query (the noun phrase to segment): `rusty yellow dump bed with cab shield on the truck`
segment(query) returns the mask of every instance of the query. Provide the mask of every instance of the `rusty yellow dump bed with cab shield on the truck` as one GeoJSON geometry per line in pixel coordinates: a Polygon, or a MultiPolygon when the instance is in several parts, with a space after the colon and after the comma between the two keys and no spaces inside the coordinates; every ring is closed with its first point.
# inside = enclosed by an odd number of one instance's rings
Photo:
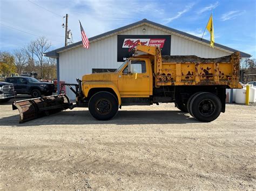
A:
{"type": "Polygon", "coordinates": [[[159,47],[137,46],[134,55],[151,55],[156,87],[220,85],[242,88],[239,83],[239,52],[220,58],[200,58],[195,55],[161,55],[159,47]]]}

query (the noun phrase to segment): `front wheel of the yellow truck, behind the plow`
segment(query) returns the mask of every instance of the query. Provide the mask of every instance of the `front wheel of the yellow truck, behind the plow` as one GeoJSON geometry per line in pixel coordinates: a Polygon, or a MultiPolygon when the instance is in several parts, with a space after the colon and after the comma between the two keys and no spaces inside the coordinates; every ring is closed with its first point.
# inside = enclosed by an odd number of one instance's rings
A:
{"type": "Polygon", "coordinates": [[[113,94],[100,91],[90,98],[88,108],[94,118],[106,121],[117,114],[118,101],[113,94]]]}

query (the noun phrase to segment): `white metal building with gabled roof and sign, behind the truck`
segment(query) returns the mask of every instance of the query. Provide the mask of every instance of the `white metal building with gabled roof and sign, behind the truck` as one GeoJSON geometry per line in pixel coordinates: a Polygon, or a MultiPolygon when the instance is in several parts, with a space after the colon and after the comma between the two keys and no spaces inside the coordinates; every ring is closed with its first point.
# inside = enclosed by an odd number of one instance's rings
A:
{"type": "MultiPolygon", "coordinates": [[[[217,58],[230,55],[237,50],[210,42],[191,34],[143,19],[98,36],[89,38],[90,48],[83,48],[82,41],[45,53],[57,59],[58,81],[76,83],[84,74],[118,68],[129,57],[129,51],[138,40],[145,45],[160,46],[162,54],[197,55],[203,58],[217,58]]],[[[250,54],[240,52],[242,58],[250,54]]],[[[58,87],[59,89],[59,87],[58,87]]],[[[67,95],[75,99],[68,89],[67,95]]]]}

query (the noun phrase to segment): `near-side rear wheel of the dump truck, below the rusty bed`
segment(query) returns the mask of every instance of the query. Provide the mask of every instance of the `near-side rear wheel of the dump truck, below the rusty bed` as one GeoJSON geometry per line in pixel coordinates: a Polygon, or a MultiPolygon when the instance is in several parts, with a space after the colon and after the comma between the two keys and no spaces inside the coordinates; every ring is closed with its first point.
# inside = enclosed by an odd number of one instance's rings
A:
{"type": "Polygon", "coordinates": [[[218,96],[203,92],[195,95],[190,102],[190,113],[201,122],[211,122],[219,117],[221,102],[218,96]]]}

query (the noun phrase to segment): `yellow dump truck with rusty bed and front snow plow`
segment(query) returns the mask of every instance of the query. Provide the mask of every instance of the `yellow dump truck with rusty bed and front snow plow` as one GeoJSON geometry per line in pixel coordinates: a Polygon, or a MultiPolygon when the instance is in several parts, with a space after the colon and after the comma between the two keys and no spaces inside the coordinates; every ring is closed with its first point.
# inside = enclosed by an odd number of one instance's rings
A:
{"type": "Polygon", "coordinates": [[[116,72],[87,74],[78,84],[65,84],[76,94],[76,104],[56,95],[15,102],[13,108],[19,109],[21,122],[75,107],[109,120],[125,105],[174,102],[198,121],[211,122],[225,112],[226,88],[242,88],[239,62],[239,52],[214,59],[162,56],[159,47],[138,45],[116,72]]]}

